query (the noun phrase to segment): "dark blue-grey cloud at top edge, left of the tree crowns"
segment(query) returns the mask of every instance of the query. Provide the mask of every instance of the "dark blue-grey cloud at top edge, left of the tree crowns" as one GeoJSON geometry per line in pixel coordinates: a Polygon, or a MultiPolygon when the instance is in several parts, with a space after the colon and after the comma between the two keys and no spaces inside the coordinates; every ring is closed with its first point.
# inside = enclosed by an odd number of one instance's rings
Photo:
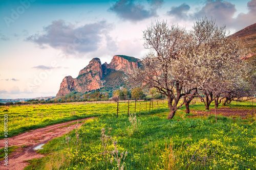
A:
{"type": "Polygon", "coordinates": [[[133,0],[119,0],[109,11],[113,11],[123,20],[140,21],[157,15],[157,9],[162,5],[162,0],[148,1],[151,8],[145,9],[141,4],[134,3],[133,0]]]}

